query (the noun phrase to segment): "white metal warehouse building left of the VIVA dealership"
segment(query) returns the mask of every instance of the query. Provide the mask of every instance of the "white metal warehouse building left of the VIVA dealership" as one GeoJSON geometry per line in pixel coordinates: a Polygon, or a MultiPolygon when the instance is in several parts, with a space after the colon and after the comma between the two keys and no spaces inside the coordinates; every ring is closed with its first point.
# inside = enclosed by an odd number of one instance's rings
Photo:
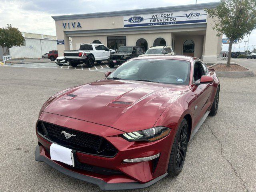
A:
{"type": "Polygon", "coordinates": [[[38,58],[51,50],[57,50],[56,36],[22,32],[24,46],[12,47],[9,54],[12,58],[38,58]]]}

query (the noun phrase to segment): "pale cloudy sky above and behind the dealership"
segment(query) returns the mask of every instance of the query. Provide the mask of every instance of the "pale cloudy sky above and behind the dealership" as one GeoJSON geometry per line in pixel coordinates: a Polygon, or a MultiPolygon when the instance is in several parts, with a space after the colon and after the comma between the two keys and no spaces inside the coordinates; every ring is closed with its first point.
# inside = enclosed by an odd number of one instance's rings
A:
{"type": "MultiPolygon", "coordinates": [[[[197,3],[216,1],[218,0],[197,0],[197,3]]],[[[56,35],[55,23],[51,18],[54,15],[165,7],[195,2],[196,0],[0,0],[0,27],[12,24],[22,32],[56,35]]],[[[248,37],[244,40],[248,40],[248,37]]],[[[253,44],[256,44],[256,30],[250,36],[250,49],[253,44]]],[[[223,50],[228,49],[228,45],[224,44],[222,47],[223,50]]],[[[238,47],[239,44],[236,44],[235,51],[238,51],[238,47]]],[[[243,50],[244,42],[240,44],[240,51],[243,50]]]]}

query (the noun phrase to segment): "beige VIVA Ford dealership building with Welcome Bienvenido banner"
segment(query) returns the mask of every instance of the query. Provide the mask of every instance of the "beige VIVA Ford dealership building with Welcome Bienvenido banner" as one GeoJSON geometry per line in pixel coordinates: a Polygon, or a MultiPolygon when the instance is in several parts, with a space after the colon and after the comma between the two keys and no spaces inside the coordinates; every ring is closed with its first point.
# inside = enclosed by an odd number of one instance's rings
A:
{"type": "Polygon", "coordinates": [[[81,43],[102,43],[110,49],[119,46],[171,45],[177,55],[217,60],[222,36],[213,30],[214,20],[205,8],[215,8],[218,2],[147,8],[115,12],[99,12],[52,16],[56,24],[59,55],[81,43]]]}

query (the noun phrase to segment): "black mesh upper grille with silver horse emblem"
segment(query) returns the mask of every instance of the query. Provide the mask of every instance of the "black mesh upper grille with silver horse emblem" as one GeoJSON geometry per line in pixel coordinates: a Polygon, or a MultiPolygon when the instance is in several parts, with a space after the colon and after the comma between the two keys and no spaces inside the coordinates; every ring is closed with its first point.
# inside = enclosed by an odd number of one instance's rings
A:
{"type": "Polygon", "coordinates": [[[38,133],[48,140],[67,148],[94,154],[98,156],[114,157],[117,149],[101,136],[80,132],[46,122],[38,122],[38,133]]]}

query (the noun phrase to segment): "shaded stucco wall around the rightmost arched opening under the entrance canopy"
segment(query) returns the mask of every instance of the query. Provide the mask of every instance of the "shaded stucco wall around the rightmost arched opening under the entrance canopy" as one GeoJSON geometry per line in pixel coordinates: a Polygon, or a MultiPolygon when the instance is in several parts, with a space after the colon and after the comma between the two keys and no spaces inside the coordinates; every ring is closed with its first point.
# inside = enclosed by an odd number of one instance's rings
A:
{"type": "Polygon", "coordinates": [[[197,58],[201,58],[203,53],[204,35],[176,36],[176,40],[175,40],[176,55],[182,55],[183,43],[186,40],[194,41],[195,43],[194,56],[197,58]]]}

